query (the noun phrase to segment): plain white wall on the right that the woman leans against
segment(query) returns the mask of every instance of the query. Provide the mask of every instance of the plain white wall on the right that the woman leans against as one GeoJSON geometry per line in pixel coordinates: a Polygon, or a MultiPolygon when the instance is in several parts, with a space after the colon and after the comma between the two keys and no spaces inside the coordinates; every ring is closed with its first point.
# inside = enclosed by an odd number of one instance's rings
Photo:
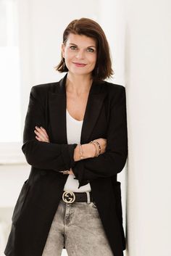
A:
{"type": "Polygon", "coordinates": [[[171,255],[170,8],[125,0],[129,256],[171,255]]]}

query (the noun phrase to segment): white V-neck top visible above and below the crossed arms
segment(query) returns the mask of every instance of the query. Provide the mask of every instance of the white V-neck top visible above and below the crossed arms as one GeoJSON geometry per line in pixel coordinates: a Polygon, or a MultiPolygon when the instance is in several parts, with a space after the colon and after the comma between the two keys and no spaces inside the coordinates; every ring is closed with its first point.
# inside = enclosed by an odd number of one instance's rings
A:
{"type": "MultiPolygon", "coordinates": [[[[70,113],[66,110],[67,117],[67,144],[80,144],[80,135],[83,125],[83,120],[78,121],[73,118],[70,113]]],[[[79,183],[77,179],[74,179],[75,176],[70,174],[67,178],[66,183],[64,184],[64,191],[73,191],[73,192],[85,192],[91,191],[90,183],[85,186],[80,186],[78,189],[79,183]]]]}

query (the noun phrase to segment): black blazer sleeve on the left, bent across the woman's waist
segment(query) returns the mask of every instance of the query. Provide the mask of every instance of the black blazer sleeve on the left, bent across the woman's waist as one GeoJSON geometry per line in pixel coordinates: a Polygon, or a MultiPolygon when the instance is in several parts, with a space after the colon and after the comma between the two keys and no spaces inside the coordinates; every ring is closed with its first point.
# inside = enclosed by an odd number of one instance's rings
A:
{"type": "Polygon", "coordinates": [[[36,140],[35,127],[46,128],[46,94],[44,90],[33,86],[30,91],[30,102],[25,117],[22,152],[28,164],[35,168],[56,171],[69,170],[75,163],[74,149],[77,144],[54,144],[36,140]]]}

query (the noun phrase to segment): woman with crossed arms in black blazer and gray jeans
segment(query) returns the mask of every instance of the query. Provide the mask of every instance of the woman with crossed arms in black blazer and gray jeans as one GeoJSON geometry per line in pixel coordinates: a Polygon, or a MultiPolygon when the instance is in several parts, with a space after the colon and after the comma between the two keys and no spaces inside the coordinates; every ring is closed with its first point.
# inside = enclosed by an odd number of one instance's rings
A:
{"type": "Polygon", "coordinates": [[[32,165],[12,216],[8,256],[122,256],[120,182],[128,154],[125,88],[97,22],[64,30],[57,83],[33,86],[22,151],[32,165]]]}

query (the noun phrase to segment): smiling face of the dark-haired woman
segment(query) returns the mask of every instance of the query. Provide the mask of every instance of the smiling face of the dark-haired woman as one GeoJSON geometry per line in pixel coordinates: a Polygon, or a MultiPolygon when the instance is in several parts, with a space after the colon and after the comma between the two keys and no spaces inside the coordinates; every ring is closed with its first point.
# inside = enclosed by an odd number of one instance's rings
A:
{"type": "Polygon", "coordinates": [[[70,73],[91,75],[97,58],[96,41],[84,35],[70,33],[62,44],[62,57],[70,73]]]}

